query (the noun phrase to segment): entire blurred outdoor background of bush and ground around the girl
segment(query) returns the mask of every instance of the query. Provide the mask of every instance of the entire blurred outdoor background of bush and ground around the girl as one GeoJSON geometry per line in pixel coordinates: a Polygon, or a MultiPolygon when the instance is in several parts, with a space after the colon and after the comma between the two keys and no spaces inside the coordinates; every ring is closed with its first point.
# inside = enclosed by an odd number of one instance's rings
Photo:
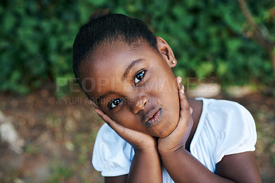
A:
{"type": "Polygon", "coordinates": [[[103,122],[72,71],[74,38],[98,10],[162,36],[190,97],[248,108],[261,177],[275,182],[274,0],[2,0],[0,182],[103,182],[91,166],[103,122]]]}

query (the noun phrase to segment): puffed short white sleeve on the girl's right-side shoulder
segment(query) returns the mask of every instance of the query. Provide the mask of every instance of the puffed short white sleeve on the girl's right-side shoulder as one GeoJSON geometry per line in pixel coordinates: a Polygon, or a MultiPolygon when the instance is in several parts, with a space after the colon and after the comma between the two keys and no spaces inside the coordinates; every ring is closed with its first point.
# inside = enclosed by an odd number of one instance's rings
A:
{"type": "Polygon", "coordinates": [[[257,136],[252,115],[242,105],[228,103],[230,105],[223,109],[227,118],[221,122],[223,129],[217,134],[216,163],[220,162],[224,155],[255,150],[257,136]]]}

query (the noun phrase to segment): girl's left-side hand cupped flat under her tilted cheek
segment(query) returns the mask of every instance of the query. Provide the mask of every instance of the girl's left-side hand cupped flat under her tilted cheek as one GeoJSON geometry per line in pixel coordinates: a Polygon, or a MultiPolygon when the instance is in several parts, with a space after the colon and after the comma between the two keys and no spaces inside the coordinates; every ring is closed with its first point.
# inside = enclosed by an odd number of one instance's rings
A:
{"type": "Polygon", "coordinates": [[[157,141],[153,136],[123,127],[118,124],[118,122],[112,120],[107,114],[104,114],[104,112],[100,110],[95,103],[91,103],[96,108],[95,111],[98,116],[100,116],[102,120],[109,125],[109,127],[118,133],[121,138],[123,138],[126,142],[129,142],[135,150],[149,151],[157,148],[157,141]]]}

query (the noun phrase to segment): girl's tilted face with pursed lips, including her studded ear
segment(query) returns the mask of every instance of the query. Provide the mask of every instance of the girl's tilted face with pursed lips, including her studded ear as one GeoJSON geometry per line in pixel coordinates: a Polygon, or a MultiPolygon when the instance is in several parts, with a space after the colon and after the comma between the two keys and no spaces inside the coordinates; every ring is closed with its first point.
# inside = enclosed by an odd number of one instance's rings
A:
{"type": "Polygon", "coordinates": [[[87,94],[115,122],[166,137],[179,120],[179,97],[170,69],[175,66],[173,52],[163,39],[157,38],[157,42],[159,52],[145,43],[100,46],[92,61],[80,66],[80,80],[87,94]]]}

